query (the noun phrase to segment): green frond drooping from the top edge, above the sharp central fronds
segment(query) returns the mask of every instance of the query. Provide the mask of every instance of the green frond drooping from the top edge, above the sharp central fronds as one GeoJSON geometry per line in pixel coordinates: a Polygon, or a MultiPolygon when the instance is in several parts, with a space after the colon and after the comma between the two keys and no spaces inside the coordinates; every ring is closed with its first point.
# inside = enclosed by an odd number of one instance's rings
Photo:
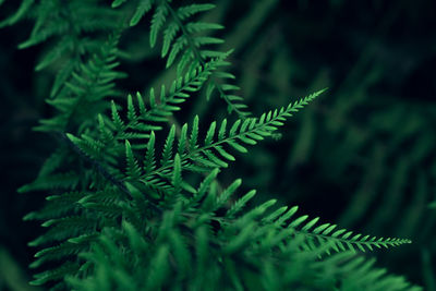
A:
{"type": "MultiPolygon", "coordinates": [[[[112,7],[117,8],[125,1],[114,0],[112,7]]],[[[192,3],[173,8],[170,0],[140,1],[130,24],[136,25],[141,19],[156,7],[150,25],[150,46],[154,47],[158,43],[158,36],[162,34],[161,57],[167,57],[167,68],[177,63],[179,74],[186,68],[195,68],[204,65],[208,60],[214,58],[222,58],[225,52],[214,50],[214,46],[222,44],[223,40],[207,36],[210,31],[222,29],[223,26],[216,23],[206,23],[191,20],[201,12],[209,11],[215,8],[210,3],[192,3]]],[[[230,65],[229,62],[222,66],[230,65]]],[[[206,98],[216,93],[228,105],[229,112],[235,112],[240,118],[250,114],[243,98],[234,92],[240,88],[231,84],[234,75],[229,72],[218,71],[214,73],[213,78],[208,82],[206,89],[206,98]]]]}

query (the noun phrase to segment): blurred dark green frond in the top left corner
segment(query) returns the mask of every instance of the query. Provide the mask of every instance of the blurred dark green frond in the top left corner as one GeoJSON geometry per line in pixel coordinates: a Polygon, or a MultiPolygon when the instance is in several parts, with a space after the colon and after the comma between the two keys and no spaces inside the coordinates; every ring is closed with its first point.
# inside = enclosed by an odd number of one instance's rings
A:
{"type": "Polygon", "coordinates": [[[2,21],[0,27],[25,17],[33,19],[35,25],[28,39],[19,48],[49,43],[35,70],[40,71],[55,63],[60,68],[51,87],[51,98],[62,94],[65,82],[74,71],[81,70],[84,58],[99,51],[105,38],[90,38],[88,35],[113,34],[121,28],[120,15],[110,8],[99,5],[96,0],[23,0],[15,14],[2,21]]]}

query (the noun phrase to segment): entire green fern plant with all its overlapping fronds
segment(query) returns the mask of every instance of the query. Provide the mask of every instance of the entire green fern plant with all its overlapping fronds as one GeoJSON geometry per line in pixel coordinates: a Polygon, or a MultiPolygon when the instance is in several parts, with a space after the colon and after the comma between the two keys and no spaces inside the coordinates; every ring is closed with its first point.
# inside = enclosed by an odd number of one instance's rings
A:
{"type": "Polygon", "coordinates": [[[48,193],[45,208],[25,217],[49,228],[31,242],[41,250],[32,283],[53,290],[419,289],[361,254],[409,240],[319,225],[294,217],[298,207],[271,209],[276,199],[247,207],[254,190],[240,195],[240,179],[227,187],[218,180],[235,160],[232,151],[247,153],[274,136],[324,90],[253,118],[228,82],[231,51],[215,50],[222,40],[208,36],[222,26],[195,19],[213,4],[116,0],[112,8],[97,0],[25,0],[0,24],[35,19],[21,47],[50,38],[55,45],[36,69],[59,66],[47,98],[57,113],[36,128],[59,146],[20,189],[48,193]],[[150,10],[150,45],[161,44],[175,77],[159,93],[128,95],[125,105],[116,89],[125,77],[116,71],[125,54],[120,38],[150,10]],[[182,102],[214,94],[238,117],[206,124],[195,116],[179,125],[173,113],[182,102]]]}

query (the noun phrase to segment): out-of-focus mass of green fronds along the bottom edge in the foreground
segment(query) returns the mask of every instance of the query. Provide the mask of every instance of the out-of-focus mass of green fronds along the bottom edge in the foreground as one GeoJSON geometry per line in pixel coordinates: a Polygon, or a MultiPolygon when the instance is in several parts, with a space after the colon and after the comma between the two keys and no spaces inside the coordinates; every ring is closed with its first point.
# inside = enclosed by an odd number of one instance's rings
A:
{"type": "MultiPolygon", "coordinates": [[[[213,193],[209,192],[199,208],[208,208],[213,193]]],[[[385,269],[374,267],[374,259],[343,252],[319,260],[318,256],[330,247],[328,244],[306,250],[307,237],[293,228],[259,227],[257,219],[263,217],[265,223],[271,217],[264,216],[271,204],[241,214],[238,220],[226,221],[225,217],[198,214],[179,203],[167,209],[156,231],[148,232],[155,233],[154,237],[144,237],[144,228],[124,220],[121,231],[105,229],[90,251],[83,254],[94,276],[83,279],[70,276],[66,280],[77,290],[89,291],[303,287],[310,290],[335,287],[350,291],[421,290],[403,277],[387,275],[385,269]],[[220,230],[210,227],[213,220],[219,223],[220,230]]],[[[269,220],[269,223],[274,222],[269,220]]]]}

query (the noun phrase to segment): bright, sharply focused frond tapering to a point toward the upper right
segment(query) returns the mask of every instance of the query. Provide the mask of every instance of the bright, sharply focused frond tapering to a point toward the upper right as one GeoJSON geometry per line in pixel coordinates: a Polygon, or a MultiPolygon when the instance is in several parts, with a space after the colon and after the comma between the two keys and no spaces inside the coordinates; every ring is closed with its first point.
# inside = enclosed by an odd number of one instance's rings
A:
{"type": "MultiPolygon", "coordinates": [[[[270,136],[278,126],[283,124],[282,122],[287,118],[291,117],[293,112],[307,105],[323,92],[314,93],[280,110],[264,113],[258,119],[247,118],[244,121],[238,120],[232,124],[228,133],[226,132],[227,122],[223,121],[220,125],[218,136],[216,136],[216,123],[213,122],[202,144],[198,144],[198,118],[196,117],[191,130],[190,141],[186,145],[186,154],[180,156],[182,169],[206,171],[207,169],[226,168],[226,160],[234,160],[234,157],[227,153],[225,146],[246,153],[245,145],[255,145],[257,141],[270,136]]],[[[166,177],[170,172],[173,156],[171,148],[173,144],[173,131],[171,130],[167,137],[160,167],[146,172],[141,179],[144,183],[153,180],[155,175],[166,177]]],[[[154,165],[157,165],[157,162],[154,161],[154,165]]]]}

